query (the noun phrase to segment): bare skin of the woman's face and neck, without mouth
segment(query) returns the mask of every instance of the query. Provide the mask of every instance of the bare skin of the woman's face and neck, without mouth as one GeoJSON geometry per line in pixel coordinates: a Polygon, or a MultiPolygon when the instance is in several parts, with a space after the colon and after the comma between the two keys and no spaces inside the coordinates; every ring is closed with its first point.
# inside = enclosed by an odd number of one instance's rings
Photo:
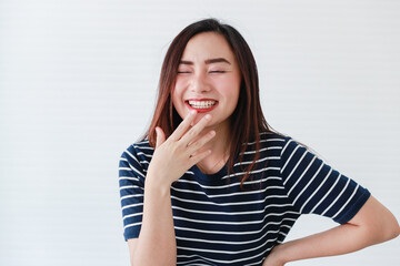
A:
{"type": "MultiPolygon", "coordinates": [[[[213,130],[216,137],[201,150],[212,153],[197,164],[203,173],[218,172],[229,157],[229,120],[239,101],[240,82],[239,65],[224,37],[204,32],[189,40],[178,69],[172,102],[179,115],[186,117],[190,112],[188,99],[218,101],[218,105],[208,112],[212,120],[204,129],[204,132],[213,130]]],[[[193,124],[204,115],[199,113],[193,124]]]]}

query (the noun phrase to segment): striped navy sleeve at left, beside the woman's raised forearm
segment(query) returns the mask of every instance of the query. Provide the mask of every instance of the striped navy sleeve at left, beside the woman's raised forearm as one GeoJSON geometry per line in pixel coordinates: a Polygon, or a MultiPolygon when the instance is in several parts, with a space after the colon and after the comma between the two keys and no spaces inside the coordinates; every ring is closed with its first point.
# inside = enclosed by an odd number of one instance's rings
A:
{"type": "Polygon", "coordinates": [[[144,193],[144,172],[133,145],[129,146],[119,161],[119,188],[123,218],[123,237],[139,237],[144,193]]]}

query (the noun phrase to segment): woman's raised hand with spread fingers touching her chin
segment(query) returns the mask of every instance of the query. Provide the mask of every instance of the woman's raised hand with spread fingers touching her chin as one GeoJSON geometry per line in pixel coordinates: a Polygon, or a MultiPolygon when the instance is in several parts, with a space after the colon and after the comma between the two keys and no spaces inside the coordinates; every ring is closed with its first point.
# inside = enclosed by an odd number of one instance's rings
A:
{"type": "Polygon", "coordinates": [[[211,121],[211,115],[204,115],[190,129],[196,116],[196,111],[190,112],[167,141],[162,129],[156,127],[156,151],[148,168],[147,182],[169,188],[172,182],[179,180],[191,166],[211,153],[211,150],[202,151],[202,147],[216,135],[216,132],[210,131],[199,136],[211,121]]]}

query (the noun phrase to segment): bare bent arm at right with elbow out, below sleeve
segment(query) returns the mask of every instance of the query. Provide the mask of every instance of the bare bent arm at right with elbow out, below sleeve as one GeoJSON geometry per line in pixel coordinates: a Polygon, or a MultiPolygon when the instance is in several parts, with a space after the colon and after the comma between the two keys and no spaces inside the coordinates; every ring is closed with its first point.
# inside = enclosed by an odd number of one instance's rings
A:
{"type": "Polygon", "coordinates": [[[347,254],[392,239],[399,234],[396,217],[370,196],[348,223],[276,246],[262,266],[283,266],[299,259],[347,254]]]}

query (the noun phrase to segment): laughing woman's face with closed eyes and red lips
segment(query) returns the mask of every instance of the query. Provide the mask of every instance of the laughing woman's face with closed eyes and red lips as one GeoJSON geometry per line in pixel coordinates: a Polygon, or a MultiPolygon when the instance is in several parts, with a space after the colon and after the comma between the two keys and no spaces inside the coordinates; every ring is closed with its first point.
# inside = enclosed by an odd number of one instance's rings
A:
{"type": "Polygon", "coordinates": [[[181,58],[173,106],[184,119],[191,110],[198,112],[193,124],[207,113],[210,126],[228,126],[240,92],[241,73],[224,37],[203,32],[189,40],[181,58]]]}

